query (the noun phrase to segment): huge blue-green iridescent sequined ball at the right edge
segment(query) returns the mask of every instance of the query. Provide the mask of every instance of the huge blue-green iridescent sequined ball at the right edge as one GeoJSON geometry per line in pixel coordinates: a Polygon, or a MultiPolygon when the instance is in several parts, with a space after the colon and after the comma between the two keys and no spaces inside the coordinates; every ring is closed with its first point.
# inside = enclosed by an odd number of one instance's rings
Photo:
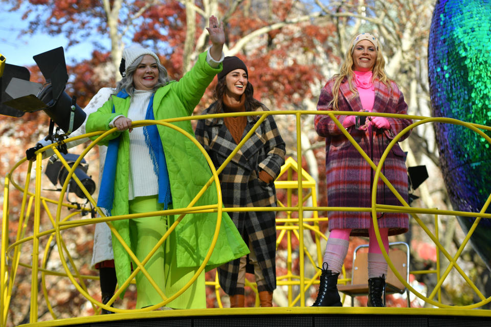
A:
{"type": "MultiPolygon", "coordinates": [[[[428,45],[433,116],[491,126],[490,17],[491,0],[437,1],[428,45]]],[[[435,131],[454,210],[480,212],[491,193],[491,145],[462,126],[437,123],[435,131]]],[[[468,230],[474,218],[459,222],[468,230]]],[[[491,219],[481,220],[471,242],[491,269],[491,219]]]]}

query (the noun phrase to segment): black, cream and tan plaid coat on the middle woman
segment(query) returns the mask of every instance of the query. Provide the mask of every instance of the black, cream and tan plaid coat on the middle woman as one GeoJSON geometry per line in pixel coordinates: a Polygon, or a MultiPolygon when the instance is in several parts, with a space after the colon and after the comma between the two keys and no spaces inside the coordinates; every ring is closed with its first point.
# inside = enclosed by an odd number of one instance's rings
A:
{"type": "MultiPolygon", "coordinates": [[[[221,113],[213,103],[203,114],[221,113]]],[[[260,106],[253,111],[267,111],[260,106]]],[[[247,116],[247,125],[242,138],[259,116],[247,116]]],[[[210,155],[216,168],[237,147],[223,118],[202,119],[196,126],[196,139],[210,155]]],[[[274,180],[284,164],[285,143],[272,115],[256,129],[251,138],[232,158],[220,173],[220,186],[225,207],[270,207],[276,206],[274,180]],[[271,183],[259,179],[264,170],[273,177],[271,183]]],[[[252,244],[256,258],[269,291],[276,288],[276,214],[275,212],[229,213],[244,241],[252,244]]],[[[227,294],[237,294],[239,261],[236,259],[218,268],[219,282],[227,294]]],[[[250,268],[250,267],[249,267],[250,268]]],[[[248,272],[253,272],[248,270],[248,272]]]]}

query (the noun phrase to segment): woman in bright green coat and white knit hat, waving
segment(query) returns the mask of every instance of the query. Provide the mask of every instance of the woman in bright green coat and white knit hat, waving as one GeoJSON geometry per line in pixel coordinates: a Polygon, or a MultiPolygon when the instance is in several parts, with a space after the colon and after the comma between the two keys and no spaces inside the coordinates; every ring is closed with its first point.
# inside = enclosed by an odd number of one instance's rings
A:
{"type": "MultiPolygon", "coordinates": [[[[203,154],[183,133],[161,125],[131,127],[132,121],[180,118],[192,114],[206,87],[221,71],[224,31],[210,17],[212,46],[191,71],[178,81],[169,81],[167,71],[152,51],[131,46],[123,51],[120,71],[124,76],[116,94],[90,114],[86,131],[109,130],[99,145],[108,153],[99,191],[98,206],[112,216],[185,208],[211,177],[203,154]]],[[[189,121],[173,125],[194,135],[189,121]]],[[[93,137],[93,139],[97,138],[93,137]]],[[[214,184],[213,184],[214,185],[214,184]]],[[[209,188],[195,206],[217,203],[215,187],[209,188]]],[[[154,216],[113,222],[119,235],[141,262],[177,217],[154,216]]],[[[170,297],[181,290],[203,263],[216,226],[216,213],[187,214],[144,268],[158,289],[170,297]]],[[[119,285],[136,268],[116,237],[113,237],[119,285]]],[[[227,214],[222,215],[218,241],[206,270],[249,252],[227,214]]],[[[136,275],[137,308],[156,305],[162,294],[140,271],[136,275]]],[[[206,308],[205,277],[202,272],[180,296],[167,303],[174,309],[206,308]]]]}

